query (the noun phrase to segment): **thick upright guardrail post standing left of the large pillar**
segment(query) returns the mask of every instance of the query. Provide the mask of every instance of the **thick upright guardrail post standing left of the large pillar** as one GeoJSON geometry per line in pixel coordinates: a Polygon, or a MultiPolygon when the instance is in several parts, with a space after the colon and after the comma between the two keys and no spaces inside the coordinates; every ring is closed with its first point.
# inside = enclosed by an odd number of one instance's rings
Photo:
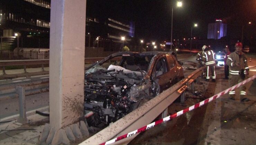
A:
{"type": "Polygon", "coordinates": [[[19,116],[17,122],[19,122],[21,124],[26,124],[28,119],[27,119],[27,114],[26,114],[25,89],[22,86],[17,86],[16,92],[19,95],[19,113],[20,113],[20,116],[19,116]]]}

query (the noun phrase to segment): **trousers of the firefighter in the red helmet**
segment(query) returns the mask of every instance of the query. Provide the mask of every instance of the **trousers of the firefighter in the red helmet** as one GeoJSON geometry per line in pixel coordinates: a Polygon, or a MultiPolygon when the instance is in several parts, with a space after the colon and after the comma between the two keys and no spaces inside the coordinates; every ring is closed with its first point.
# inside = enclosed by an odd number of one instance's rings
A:
{"type": "MultiPolygon", "coordinates": [[[[229,87],[235,86],[236,84],[240,83],[241,81],[243,81],[244,79],[241,79],[240,75],[231,75],[229,74],[229,87]]],[[[246,87],[244,85],[240,86],[240,100],[242,100],[243,98],[245,98],[246,96],[246,87]]],[[[235,90],[229,91],[229,96],[230,98],[235,99],[235,90]]]]}

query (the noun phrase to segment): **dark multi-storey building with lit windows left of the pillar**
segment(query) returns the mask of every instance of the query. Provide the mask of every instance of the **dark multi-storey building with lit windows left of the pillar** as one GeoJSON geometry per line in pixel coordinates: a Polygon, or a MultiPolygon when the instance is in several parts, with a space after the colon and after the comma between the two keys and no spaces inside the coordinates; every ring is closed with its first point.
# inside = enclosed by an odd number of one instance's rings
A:
{"type": "Polygon", "coordinates": [[[51,0],[0,0],[1,49],[49,48],[51,0]],[[17,39],[19,37],[19,39],[17,39]]]}

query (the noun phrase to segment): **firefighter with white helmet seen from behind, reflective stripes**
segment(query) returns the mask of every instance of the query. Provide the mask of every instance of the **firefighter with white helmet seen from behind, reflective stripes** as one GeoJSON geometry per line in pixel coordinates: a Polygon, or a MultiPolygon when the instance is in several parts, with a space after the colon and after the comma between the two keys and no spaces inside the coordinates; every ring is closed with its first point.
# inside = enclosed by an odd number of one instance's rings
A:
{"type": "Polygon", "coordinates": [[[215,75],[215,65],[216,65],[216,54],[213,50],[208,48],[207,46],[203,46],[203,61],[205,62],[206,66],[206,81],[210,81],[210,75],[209,75],[209,69],[211,69],[211,74],[212,74],[212,81],[216,81],[216,75],[215,75]]]}

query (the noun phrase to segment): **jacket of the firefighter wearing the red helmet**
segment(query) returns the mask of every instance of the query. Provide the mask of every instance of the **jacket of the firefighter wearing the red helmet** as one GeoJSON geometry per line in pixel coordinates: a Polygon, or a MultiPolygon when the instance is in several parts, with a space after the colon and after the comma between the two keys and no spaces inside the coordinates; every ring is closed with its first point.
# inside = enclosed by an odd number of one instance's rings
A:
{"type": "Polygon", "coordinates": [[[249,71],[247,58],[244,52],[241,52],[240,57],[236,52],[232,52],[227,59],[227,65],[229,66],[229,74],[231,75],[239,75],[241,69],[245,69],[245,73],[246,71],[249,71]],[[240,66],[237,66],[236,64],[240,64],[240,66]]]}

